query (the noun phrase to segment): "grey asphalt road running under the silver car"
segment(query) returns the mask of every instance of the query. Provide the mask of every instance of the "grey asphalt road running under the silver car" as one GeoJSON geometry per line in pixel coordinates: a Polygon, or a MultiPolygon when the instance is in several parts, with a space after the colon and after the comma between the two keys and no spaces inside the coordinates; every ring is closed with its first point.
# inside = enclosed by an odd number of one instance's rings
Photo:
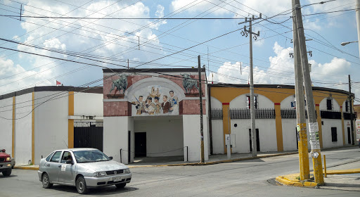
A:
{"type": "MultiPolygon", "coordinates": [[[[328,170],[360,167],[360,148],[323,151],[328,170]]],[[[91,189],[89,196],[359,196],[358,191],[278,186],[271,181],[299,172],[298,155],[206,166],[135,167],[124,189],[91,189]],[[271,184],[272,183],[272,184],[271,184]]],[[[312,162],[310,159],[310,166],[312,162]]],[[[13,170],[0,175],[0,196],[81,196],[75,187],[43,189],[35,170],[13,170]]]]}

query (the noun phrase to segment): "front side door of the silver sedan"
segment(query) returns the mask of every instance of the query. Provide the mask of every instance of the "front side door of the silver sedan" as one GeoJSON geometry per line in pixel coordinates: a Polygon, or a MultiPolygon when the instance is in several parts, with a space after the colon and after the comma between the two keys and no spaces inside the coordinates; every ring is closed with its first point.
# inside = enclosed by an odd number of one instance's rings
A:
{"type": "Polygon", "coordinates": [[[64,151],[60,163],[59,182],[75,184],[75,162],[72,153],[70,151],[64,151]],[[67,164],[67,160],[71,160],[73,164],[67,164]]]}

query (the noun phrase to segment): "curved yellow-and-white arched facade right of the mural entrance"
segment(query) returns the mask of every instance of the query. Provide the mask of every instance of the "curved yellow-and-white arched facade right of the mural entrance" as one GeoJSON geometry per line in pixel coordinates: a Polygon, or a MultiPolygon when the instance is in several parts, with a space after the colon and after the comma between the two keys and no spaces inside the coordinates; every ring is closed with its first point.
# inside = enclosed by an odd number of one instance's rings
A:
{"type": "MultiPolygon", "coordinates": [[[[226,153],[224,136],[232,134],[231,153],[249,153],[249,85],[209,84],[212,153],[226,153]]],[[[352,144],[348,92],[313,87],[321,148],[352,144]]],[[[306,105],[306,101],[305,105],[306,105]]],[[[255,85],[257,151],[296,151],[295,89],[286,85],[255,85]]],[[[307,129],[309,138],[309,129],[307,129]]],[[[310,148],[310,144],[309,144],[310,148]]]]}

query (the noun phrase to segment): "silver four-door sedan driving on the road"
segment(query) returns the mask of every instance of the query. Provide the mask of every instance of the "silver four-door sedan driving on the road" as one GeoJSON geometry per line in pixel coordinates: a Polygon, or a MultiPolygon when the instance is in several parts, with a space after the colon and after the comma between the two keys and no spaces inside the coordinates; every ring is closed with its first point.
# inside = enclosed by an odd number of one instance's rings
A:
{"type": "Polygon", "coordinates": [[[76,186],[80,194],[89,187],[115,184],[123,188],[131,181],[131,172],[129,167],[112,159],[96,148],[58,150],[40,160],[37,173],[44,188],[53,184],[76,186]]]}

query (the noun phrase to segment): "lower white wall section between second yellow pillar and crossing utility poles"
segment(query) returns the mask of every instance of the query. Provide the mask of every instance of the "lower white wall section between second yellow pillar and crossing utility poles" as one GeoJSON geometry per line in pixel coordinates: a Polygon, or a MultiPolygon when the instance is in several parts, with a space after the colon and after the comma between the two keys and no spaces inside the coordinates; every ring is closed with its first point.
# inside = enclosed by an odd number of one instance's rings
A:
{"type": "Polygon", "coordinates": [[[294,118],[283,118],[281,120],[283,125],[283,148],[284,151],[296,151],[297,134],[296,126],[297,122],[294,118]]]}

